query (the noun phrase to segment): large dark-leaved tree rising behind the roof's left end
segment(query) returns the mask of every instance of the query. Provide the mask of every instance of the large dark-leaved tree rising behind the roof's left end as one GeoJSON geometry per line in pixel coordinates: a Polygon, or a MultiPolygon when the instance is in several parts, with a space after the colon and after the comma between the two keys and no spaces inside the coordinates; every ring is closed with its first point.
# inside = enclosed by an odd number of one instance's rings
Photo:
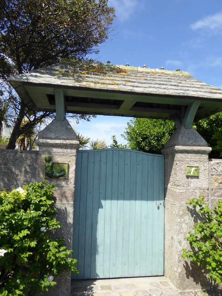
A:
{"type": "MultiPolygon", "coordinates": [[[[114,12],[108,0],[0,0],[0,78],[9,92],[6,79],[10,76],[29,73],[61,58],[82,60],[98,53],[98,46],[109,38],[114,12]]],[[[13,107],[15,123],[9,149],[14,149],[16,139],[26,129],[52,116],[47,112],[29,116],[18,97],[13,107]],[[29,122],[21,128],[24,117],[29,122]]]]}

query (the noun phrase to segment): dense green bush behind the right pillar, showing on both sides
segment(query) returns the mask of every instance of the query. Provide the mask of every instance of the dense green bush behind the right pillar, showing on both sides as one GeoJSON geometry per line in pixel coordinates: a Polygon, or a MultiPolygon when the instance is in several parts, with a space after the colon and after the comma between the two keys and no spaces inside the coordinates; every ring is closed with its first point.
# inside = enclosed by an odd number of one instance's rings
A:
{"type": "MultiPolygon", "coordinates": [[[[209,157],[222,158],[222,112],[194,122],[193,128],[212,148],[209,157]]],[[[113,136],[110,147],[161,154],[175,129],[172,120],[134,118],[127,123],[126,131],[121,135],[127,140],[127,145],[118,144],[116,136],[113,136]]]]}

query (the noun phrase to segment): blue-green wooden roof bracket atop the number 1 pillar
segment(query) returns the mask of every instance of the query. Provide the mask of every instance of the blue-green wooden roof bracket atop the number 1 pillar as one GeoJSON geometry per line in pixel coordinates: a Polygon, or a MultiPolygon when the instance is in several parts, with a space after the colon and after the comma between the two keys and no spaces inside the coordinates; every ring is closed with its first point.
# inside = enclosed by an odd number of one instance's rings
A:
{"type": "Polygon", "coordinates": [[[201,101],[190,103],[187,107],[186,113],[183,112],[185,106],[182,106],[182,117],[179,114],[171,114],[169,117],[174,121],[176,127],[179,127],[181,124],[183,124],[185,128],[192,128],[193,120],[200,103],[201,101]],[[183,116],[184,113],[185,115],[183,116]]]}

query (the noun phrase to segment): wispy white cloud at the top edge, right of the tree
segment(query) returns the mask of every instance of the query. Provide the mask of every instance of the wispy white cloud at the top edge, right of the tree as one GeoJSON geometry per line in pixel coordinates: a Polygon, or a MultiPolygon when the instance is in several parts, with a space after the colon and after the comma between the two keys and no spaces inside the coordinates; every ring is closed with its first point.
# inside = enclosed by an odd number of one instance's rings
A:
{"type": "Polygon", "coordinates": [[[116,16],[121,22],[125,21],[134,12],[137,0],[109,0],[109,6],[113,6],[116,10],[116,16]]]}

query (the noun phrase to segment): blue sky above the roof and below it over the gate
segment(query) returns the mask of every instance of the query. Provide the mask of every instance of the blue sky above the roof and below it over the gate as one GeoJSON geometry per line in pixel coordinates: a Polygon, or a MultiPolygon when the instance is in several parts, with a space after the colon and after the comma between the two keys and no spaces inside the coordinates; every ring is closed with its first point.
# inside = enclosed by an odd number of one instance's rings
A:
{"type": "MultiPolygon", "coordinates": [[[[221,0],[109,0],[118,18],[111,41],[101,47],[99,61],[147,68],[188,71],[222,88],[221,0]]],[[[98,116],[74,126],[93,139],[120,136],[127,117],[98,116]]]]}

